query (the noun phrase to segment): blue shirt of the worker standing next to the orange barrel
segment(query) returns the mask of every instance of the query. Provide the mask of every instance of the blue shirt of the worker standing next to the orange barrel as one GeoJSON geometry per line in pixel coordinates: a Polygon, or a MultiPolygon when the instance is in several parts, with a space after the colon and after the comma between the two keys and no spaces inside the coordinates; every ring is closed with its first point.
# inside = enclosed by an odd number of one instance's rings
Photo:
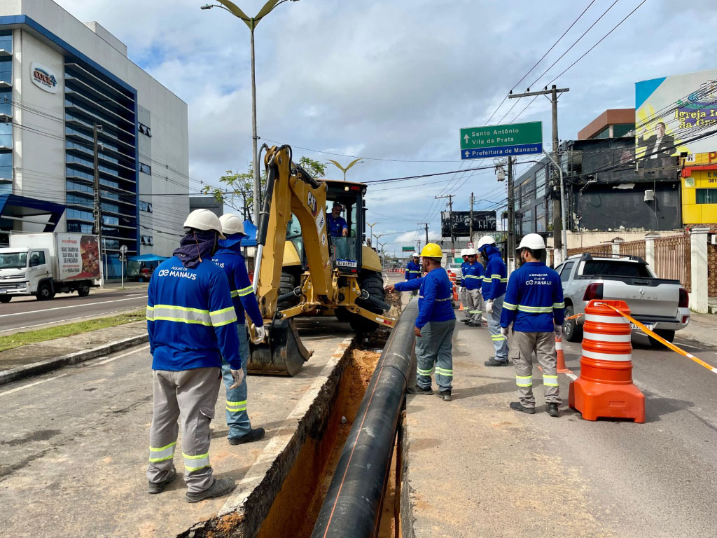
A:
{"type": "Polygon", "coordinates": [[[552,332],[564,321],[563,286],[558,273],[541,262],[513,271],[505,291],[500,326],[522,333],[552,332]]]}

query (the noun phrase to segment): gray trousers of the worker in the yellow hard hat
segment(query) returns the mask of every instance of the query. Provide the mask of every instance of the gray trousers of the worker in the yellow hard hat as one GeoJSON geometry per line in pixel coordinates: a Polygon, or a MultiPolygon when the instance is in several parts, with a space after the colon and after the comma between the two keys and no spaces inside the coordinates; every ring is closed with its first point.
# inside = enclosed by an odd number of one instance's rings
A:
{"type": "Polygon", "coordinates": [[[436,384],[443,392],[451,390],[453,381],[453,331],[455,319],[429,321],[421,328],[416,339],[416,384],[422,389],[431,388],[431,374],[435,365],[436,384]]]}

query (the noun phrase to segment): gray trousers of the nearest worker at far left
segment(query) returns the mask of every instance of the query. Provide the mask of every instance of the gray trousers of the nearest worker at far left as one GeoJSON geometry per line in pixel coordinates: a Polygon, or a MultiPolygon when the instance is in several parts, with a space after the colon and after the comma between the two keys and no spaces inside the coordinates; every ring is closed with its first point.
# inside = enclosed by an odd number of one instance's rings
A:
{"type": "Polygon", "coordinates": [[[222,372],[217,368],[196,368],[170,372],[153,370],[154,406],[149,430],[149,466],[147,480],[164,481],[174,469],[174,448],[177,444],[181,417],[181,444],[184,457],[184,481],[191,493],[212,486],[209,464],[209,423],[214,418],[222,372]]]}

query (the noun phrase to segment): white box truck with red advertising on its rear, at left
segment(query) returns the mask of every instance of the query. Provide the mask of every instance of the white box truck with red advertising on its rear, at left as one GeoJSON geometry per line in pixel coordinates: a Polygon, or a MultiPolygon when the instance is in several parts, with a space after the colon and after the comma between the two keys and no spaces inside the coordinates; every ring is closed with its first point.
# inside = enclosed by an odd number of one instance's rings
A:
{"type": "Polygon", "coordinates": [[[100,279],[96,235],[39,233],[10,236],[0,248],[0,303],[34,295],[39,301],[55,293],[85,297],[100,279]]]}

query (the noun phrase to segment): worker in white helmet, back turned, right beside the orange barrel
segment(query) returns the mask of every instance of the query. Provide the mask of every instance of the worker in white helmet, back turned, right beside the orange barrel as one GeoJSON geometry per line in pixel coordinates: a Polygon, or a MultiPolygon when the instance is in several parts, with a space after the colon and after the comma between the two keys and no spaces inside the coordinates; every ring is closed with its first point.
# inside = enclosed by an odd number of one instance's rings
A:
{"type": "Polygon", "coordinates": [[[521,267],[513,271],[505,291],[500,331],[508,336],[513,324],[511,359],[516,367],[518,402],[511,409],[532,415],[536,400],[533,397],[533,353],[543,369],[546,411],[559,416],[561,403],[558,387],[556,336],[562,336],[565,303],[563,286],[558,273],[540,260],[545,257],[545,241],[538,234],[528,234],[518,245],[521,267]]]}

